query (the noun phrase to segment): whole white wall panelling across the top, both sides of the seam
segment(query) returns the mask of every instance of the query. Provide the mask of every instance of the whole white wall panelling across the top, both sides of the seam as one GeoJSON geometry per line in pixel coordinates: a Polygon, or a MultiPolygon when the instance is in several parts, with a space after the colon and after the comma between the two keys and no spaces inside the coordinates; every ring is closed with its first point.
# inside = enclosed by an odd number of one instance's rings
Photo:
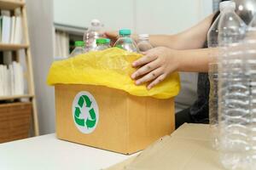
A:
{"type": "Polygon", "coordinates": [[[175,33],[212,12],[212,0],[54,0],[55,23],[90,26],[102,20],[107,30],[175,33]]]}

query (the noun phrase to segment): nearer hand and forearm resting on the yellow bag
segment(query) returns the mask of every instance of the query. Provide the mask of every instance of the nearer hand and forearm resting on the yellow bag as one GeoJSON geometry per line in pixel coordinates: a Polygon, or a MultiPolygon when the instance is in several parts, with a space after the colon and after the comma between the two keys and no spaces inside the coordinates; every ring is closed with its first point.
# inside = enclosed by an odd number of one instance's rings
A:
{"type": "Polygon", "coordinates": [[[212,62],[209,57],[209,48],[176,50],[159,47],[148,50],[141,59],[133,62],[132,66],[138,68],[131,78],[137,85],[148,82],[148,89],[162,82],[174,71],[207,72],[208,64],[212,62]]]}

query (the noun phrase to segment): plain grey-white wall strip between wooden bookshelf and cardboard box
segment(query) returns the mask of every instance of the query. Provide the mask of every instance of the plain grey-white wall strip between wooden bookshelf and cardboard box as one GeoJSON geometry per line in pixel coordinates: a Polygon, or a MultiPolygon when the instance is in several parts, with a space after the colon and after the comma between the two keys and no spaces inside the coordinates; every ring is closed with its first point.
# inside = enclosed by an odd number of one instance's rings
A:
{"type": "Polygon", "coordinates": [[[53,60],[53,2],[26,0],[40,134],[55,132],[54,89],[46,85],[53,60]]]}

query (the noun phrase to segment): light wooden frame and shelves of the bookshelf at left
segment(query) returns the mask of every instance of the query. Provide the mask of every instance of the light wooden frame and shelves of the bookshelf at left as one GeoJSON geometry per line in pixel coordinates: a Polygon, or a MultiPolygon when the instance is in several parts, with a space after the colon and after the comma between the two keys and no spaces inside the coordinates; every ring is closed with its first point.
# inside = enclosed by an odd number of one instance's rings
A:
{"type": "MultiPolygon", "coordinates": [[[[4,100],[8,102],[26,99],[32,105],[32,129],[33,135],[38,136],[39,129],[38,129],[38,111],[37,111],[37,103],[36,103],[36,96],[35,96],[35,89],[34,89],[34,80],[33,80],[33,71],[32,71],[32,55],[30,51],[30,42],[28,37],[28,28],[27,28],[27,20],[26,20],[26,3],[25,0],[0,0],[0,10],[10,10],[13,11],[15,8],[20,8],[20,16],[21,16],[21,23],[22,23],[22,35],[24,39],[24,43],[22,44],[9,44],[9,43],[1,43],[0,42],[0,51],[11,51],[13,52],[12,55],[15,54],[15,59],[17,61],[20,60],[18,55],[18,51],[23,49],[25,51],[25,60],[26,60],[26,72],[24,74],[25,81],[27,84],[28,94],[23,95],[11,95],[11,96],[0,96],[0,107],[4,104],[4,100]],[[3,104],[2,104],[2,103],[3,104]]],[[[1,57],[1,56],[0,56],[1,57]]],[[[11,106],[10,106],[11,107],[11,106]]],[[[22,114],[22,112],[20,112],[22,114]]],[[[0,122],[1,123],[1,122],[0,122]]]]}

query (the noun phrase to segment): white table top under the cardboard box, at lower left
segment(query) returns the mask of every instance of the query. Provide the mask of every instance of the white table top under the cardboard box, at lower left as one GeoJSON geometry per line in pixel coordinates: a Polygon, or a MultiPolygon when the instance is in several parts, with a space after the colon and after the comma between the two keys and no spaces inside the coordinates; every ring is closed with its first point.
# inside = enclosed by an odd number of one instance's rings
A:
{"type": "Polygon", "coordinates": [[[1,170],[98,170],[129,157],[56,139],[54,133],[0,144],[1,170]]]}

